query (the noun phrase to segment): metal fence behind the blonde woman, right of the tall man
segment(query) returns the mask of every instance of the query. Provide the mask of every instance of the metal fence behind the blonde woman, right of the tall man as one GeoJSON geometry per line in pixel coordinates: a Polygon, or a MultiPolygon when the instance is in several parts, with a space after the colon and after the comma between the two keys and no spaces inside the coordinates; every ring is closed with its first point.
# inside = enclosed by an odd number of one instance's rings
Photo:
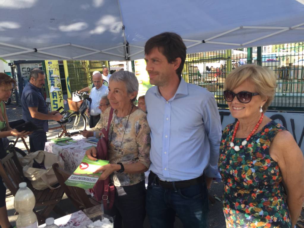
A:
{"type": "Polygon", "coordinates": [[[243,64],[259,64],[275,71],[277,87],[269,109],[304,110],[304,42],[188,54],[183,78],[212,92],[226,108],[226,75],[243,64]]]}

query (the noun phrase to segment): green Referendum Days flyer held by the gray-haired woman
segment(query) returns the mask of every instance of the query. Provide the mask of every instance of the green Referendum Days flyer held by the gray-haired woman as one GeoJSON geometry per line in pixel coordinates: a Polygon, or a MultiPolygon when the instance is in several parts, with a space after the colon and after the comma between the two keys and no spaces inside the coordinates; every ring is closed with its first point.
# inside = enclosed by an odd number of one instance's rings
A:
{"type": "Polygon", "coordinates": [[[92,161],[88,159],[87,155],[85,155],[81,161],[81,164],[64,183],[68,186],[84,189],[93,188],[95,183],[98,181],[99,176],[101,175],[101,173],[93,174],[93,172],[106,164],[109,164],[109,161],[92,161]]]}

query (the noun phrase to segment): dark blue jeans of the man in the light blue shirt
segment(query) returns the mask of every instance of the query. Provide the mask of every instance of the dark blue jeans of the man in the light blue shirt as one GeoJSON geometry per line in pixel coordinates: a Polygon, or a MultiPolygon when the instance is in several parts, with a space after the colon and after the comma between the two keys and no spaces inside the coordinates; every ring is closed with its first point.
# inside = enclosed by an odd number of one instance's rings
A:
{"type": "Polygon", "coordinates": [[[173,228],[176,214],[184,228],[205,228],[208,212],[206,182],[169,189],[158,185],[149,175],[146,208],[151,228],[173,228]]]}

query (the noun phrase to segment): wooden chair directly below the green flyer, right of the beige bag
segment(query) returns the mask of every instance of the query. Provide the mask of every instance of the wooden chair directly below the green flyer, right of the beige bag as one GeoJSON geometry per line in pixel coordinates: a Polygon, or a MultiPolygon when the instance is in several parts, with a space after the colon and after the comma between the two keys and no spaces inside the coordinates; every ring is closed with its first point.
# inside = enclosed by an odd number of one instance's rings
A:
{"type": "Polygon", "coordinates": [[[66,181],[67,178],[71,176],[71,173],[61,169],[57,163],[53,164],[53,170],[59,184],[64,190],[64,193],[69,199],[71,199],[72,203],[77,209],[83,210],[100,205],[100,202],[88,196],[84,189],[73,186],[67,186],[66,184],[64,184],[64,181],[66,181]]]}

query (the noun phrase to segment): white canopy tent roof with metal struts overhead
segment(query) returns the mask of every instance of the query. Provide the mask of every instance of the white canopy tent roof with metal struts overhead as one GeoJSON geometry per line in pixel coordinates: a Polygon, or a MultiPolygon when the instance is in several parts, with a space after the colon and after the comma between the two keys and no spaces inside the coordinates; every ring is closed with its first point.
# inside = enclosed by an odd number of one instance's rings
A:
{"type": "Polygon", "coordinates": [[[0,0],[0,57],[134,60],[165,31],[188,53],[293,43],[303,15],[304,0],[0,0]]]}

